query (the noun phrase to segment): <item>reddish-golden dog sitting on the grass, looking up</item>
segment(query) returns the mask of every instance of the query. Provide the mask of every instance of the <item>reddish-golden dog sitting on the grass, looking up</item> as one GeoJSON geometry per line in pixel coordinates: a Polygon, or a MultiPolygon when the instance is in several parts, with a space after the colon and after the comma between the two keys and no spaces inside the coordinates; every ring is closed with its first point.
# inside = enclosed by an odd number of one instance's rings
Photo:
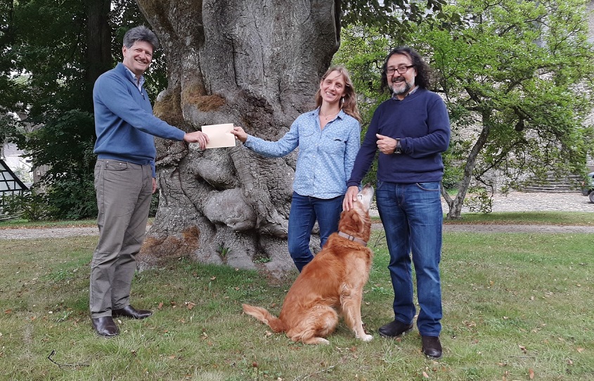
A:
{"type": "Polygon", "coordinates": [[[330,344],[325,337],[334,332],[338,316],[355,337],[373,339],[363,330],[361,299],[369,278],[373,252],[367,247],[371,233],[369,205],[373,187],[367,184],[353,208],[340,215],[338,232],[332,233],[321,252],[307,264],[291,286],[278,318],[262,307],[243,304],[243,311],[285,332],[295,342],[330,344]]]}

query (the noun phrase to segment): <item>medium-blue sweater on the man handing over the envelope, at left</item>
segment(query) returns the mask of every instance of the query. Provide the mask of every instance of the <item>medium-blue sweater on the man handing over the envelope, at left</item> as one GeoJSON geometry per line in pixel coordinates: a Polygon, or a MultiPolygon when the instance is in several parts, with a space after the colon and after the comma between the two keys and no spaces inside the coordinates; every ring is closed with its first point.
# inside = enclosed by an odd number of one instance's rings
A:
{"type": "Polygon", "coordinates": [[[155,176],[153,136],[182,141],[186,134],[153,115],[144,88],[138,90],[134,75],[122,64],[103,73],[93,87],[95,132],[93,150],[99,159],[150,164],[155,176]]]}

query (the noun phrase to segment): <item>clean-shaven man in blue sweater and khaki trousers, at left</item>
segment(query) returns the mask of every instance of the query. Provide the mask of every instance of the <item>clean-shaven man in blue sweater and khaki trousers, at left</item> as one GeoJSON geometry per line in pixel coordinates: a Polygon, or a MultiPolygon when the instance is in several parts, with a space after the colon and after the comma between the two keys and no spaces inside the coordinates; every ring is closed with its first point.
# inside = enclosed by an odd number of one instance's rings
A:
{"type": "Polygon", "coordinates": [[[113,317],[153,314],[131,306],[130,289],[151,195],[157,191],[154,136],[198,143],[202,149],[208,143],[201,131],[186,134],[153,115],[143,73],[158,44],[147,27],[129,30],[122,63],[103,73],[93,88],[99,242],[91,261],[89,306],[93,328],[103,337],[120,333],[113,317]]]}

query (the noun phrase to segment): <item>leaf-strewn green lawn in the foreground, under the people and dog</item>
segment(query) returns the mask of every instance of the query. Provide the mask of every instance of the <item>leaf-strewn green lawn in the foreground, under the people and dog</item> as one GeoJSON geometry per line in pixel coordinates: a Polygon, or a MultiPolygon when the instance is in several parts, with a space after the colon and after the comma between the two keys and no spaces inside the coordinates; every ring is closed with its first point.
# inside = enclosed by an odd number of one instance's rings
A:
{"type": "MultiPolygon", "coordinates": [[[[574,224],[569,222],[569,224],[574,224]]],[[[344,323],[328,346],[294,343],[243,314],[278,314],[296,273],[180,259],[138,273],[133,304],[155,314],[93,335],[89,261],[96,237],[0,240],[0,380],[594,380],[593,237],[445,233],[444,356],[426,359],[413,330],[386,340],[392,285],[382,232],[362,306],[363,343],[344,323]]]]}

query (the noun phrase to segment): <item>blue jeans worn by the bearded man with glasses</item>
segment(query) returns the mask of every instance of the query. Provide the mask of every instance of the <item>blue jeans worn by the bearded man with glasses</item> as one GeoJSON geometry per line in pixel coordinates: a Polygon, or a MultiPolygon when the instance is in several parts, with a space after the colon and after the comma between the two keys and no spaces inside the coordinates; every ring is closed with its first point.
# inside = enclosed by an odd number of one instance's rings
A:
{"type": "Polygon", "coordinates": [[[439,182],[378,181],[375,200],[390,253],[388,269],[394,288],[394,318],[409,324],[415,317],[412,257],[420,306],[419,332],[423,336],[439,336],[442,315],[439,261],[444,219],[439,182]]]}

